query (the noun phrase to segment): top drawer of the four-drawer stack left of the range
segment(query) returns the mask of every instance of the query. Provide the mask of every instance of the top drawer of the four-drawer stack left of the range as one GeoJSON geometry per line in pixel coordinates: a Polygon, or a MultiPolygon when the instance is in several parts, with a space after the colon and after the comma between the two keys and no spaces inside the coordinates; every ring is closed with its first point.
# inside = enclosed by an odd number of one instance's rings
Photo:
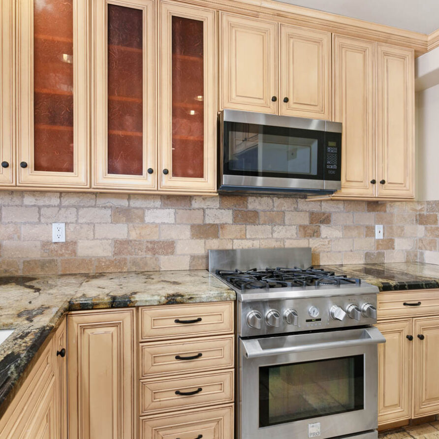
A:
{"type": "Polygon", "coordinates": [[[233,302],[140,308],[140,341],[233,332],[233,302]]]}

